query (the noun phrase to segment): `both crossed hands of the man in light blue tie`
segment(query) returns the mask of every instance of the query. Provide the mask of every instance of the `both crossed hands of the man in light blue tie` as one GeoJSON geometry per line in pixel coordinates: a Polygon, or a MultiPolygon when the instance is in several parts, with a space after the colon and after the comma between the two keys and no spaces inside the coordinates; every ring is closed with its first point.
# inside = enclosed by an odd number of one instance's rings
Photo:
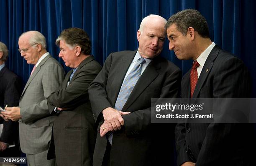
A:
{"type": "Polygon", "coordinates": [[[124,125],[122,115],[130,114],[131,112],[123,112],[108,107],[102,111],[104,122],[100,126],[100,136],[105,136],[109,131],[117,131],[124,125]]]}

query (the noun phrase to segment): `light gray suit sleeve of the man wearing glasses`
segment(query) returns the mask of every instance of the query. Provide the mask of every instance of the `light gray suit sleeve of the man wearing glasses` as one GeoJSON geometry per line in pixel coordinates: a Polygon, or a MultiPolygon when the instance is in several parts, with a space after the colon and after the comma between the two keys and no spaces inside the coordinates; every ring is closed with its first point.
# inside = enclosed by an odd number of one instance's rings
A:
{"type": "Polygon", "coordinates": [[[21,119],[25,124],[50,116],[47,98],[56,91],[64,79],[64,70],[57,63],[49,64],[44,70],[41,83],[44,95],[41,102],[20,108],[21,119]]]}

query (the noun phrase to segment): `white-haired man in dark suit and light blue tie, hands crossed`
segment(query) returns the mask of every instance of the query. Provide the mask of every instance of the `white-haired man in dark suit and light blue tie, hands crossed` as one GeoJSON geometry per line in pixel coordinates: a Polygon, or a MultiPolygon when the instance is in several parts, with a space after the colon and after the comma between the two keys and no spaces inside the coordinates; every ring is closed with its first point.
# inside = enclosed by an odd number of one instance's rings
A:
{"type": "Polygon", "coordinates": [[[151,98],[177,98],[181,79],[180,69],[159,56],[165,24],[159,15],[145,17],[138,50],[111,53],[90,85],[99,131],[94,166],[174,165],[174,126],[151,124],[151,98]]]}

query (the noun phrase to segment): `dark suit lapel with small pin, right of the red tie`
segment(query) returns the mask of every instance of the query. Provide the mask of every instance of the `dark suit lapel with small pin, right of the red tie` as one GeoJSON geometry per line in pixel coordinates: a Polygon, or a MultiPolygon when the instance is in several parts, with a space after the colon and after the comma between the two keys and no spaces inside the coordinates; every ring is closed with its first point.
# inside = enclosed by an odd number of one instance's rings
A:
{"type": "MultiPolygon", "coordinates": [[[[200,77],[198,78],[196,87],[195,87],[195,91],[194,94],[192,96],[192,98],[197,98],[198,94],[202,88],[202,85],[204,84],[207,76],[209,75],[209,73],[211,72],[212,66],[214,64],[214,60],[215,58],[218,56],[220,51],[220,48],[215,45],[215,47],[213,47],[212,51],[210,52],[209,56],[207,57],[205,64],[202,68],[202,72],[200,74],[200,77]]],[[[190,83],[189,83],[189,87],[190,87],[190,83]]],[[[190,91],[189,91],[190,92],[190,91]]]]}

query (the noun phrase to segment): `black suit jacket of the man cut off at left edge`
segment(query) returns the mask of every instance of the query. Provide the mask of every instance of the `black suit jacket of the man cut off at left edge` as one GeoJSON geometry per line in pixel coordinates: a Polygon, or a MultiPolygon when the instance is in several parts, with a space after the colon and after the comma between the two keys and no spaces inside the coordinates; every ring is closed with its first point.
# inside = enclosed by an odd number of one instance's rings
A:
{"type": "MultiPolygon", "coordinates": [[[[20,78],[11,72],[7,67],[0,71],[0,106],[4,108],[15,107],[19,105],[22,83],[20,78]]],[[[0,118],[0,123],[3,124],[3,133],[0,141],[8,144],[13,144],[15,141],[18,146],[18,123],[15,121],[5,121],[0,118]]]]}

